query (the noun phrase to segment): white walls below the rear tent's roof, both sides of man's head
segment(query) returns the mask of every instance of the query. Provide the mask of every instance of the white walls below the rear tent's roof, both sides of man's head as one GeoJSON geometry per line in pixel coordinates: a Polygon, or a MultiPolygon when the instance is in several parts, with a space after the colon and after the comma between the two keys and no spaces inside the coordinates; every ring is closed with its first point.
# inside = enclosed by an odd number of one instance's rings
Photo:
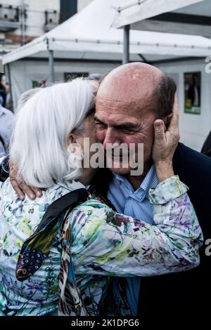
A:
{"type": "MultiPolygon", "coordinates": [[[[164,72],[172,74],[177,82],[179,97],[181,142],[200,151],[207,134],[211,130],[211,73],[205,72],[204,60],[174,62],[157,65],[164,72]],[[184,113],[184,72],[201,72],[201,113],[184,113]]],[[[106,74],[116,63],[55,61],[55,81],[63,80],[64,72],[89,72],[106,74]]],[[[32,80],[46,80],[49,75],[47,60],[19,60],[11,63],[14,104],[21,93],[32,88],[32,80]]]]}

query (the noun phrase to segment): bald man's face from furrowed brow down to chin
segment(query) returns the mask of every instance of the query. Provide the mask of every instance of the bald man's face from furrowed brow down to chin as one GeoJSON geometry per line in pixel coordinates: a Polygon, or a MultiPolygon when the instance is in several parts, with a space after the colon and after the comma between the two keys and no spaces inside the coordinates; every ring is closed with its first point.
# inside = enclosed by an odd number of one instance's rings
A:
{"type": "MultiPolygon", "coordinates": [[[[112,145],[126,143],[128,147],[130,143],[134,143],[136,145],[135,159],[137,161],[139,159],[137,147],[139,143],[143,143],[143,164],[148,164],[151,161],[155,114],[147,110],[146,101],[138,104],[136,101],[131,100],[126,102],[125,100],[114,100],[109,96],[96,98],[95,121],[96,137],[103,144],[105,150],[108,143],[112,145]]],[[[128,162],[127,168],[123,168],[122,158],[120,157],[118,166],[113,159],[109,167],[114,173],[128,176],[132,170],[130,165],[128,162]]]]}

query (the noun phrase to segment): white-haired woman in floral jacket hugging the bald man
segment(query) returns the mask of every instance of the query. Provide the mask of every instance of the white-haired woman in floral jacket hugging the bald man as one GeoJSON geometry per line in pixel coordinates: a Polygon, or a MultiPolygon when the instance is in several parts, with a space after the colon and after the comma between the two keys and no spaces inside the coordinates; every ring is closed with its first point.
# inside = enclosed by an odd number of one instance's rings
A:
{"type": "MultiPolygon", "coordinates": [[[[1,186],[1,315],[130,314],[121,288],[106,303],[112,277],[165,274],[199,263],[200,226],[188,188],[172,169],[159,170],[159,184],[150,191],[154,225],[118,214],[87,192],[97,170],[80,168],[75,143],[83,150],[84,138],[96,142],[95,89],[84,79],[41,88],[17,114],[11,159],[28,185],[44,191],[22,201],[10,180],[1,186]],[[67,201],[70,209],[62,210],[67,201]]],[[[155,132],[155,166],[160,158],[169,164],[175,137],[168,155],[157,138],[155,132]]]]}

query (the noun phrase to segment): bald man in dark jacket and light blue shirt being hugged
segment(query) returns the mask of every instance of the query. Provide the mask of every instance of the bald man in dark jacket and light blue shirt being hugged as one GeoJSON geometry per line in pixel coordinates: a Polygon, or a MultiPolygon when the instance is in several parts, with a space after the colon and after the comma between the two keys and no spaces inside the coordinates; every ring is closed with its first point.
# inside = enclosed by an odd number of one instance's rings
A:
{"type": "MultiPolygon", "coordinates": [[[[143,143],[143,173],[132,176],[130,164],[125,169],[111,162],[110,170],[97,174],[99,190],[107,194],[119,213],[153,223],[153,211],[148,201],[148,190],[157,184],[155,166],[151,158],[155,119],[162,119],[167,127],[172,117],[176,85],[174,80],[157,68],[143,63],[117,67],[103,79],[96,96],[96,133],[106,145],[112,143],[143,143]]],[[[136,155],[137,156],[137,155],[136,155]]],[[[179,143],[173,159],[174,173],[189,187],[189,197],[203,229],[205,244],[211,238],[210,187],[211,159],[179,143]]],[[[30,197],[38,190],[25,183],[14,183],[19,196],[24,190],[30,197]],[[17,190],[18,189],[18,190],[17,190]]],[[[39,192],[40,193],[40,192],[39,192]]],[[[32,197],[31,197],[32,198],[32,197]]],[[[35,194],[34,194],[35,198],[35,194]]],[[[140,315],[147,325],[172,315],[174,324],[185,314],[188,325],[194,325],[192,314],[209,315],[204,296],[210,294],[210,258],[204,245],[200,251],[201,263],[195,270],[151,278],[115,280],[113,290],[118,296],[119,285],[126,291],[132,315],[140,315]],[[197,313],[196,313],[197,312],[197,313]]],[[[181,260],[182,263],[182,260],[181,260]]],[[[119,295],[120,296],[120,295],[119,295]]],[[[112,301],[109,301],[109,304],[112,301]]],[[[184,321],[183,323],[184,324],[184,321]]]]}

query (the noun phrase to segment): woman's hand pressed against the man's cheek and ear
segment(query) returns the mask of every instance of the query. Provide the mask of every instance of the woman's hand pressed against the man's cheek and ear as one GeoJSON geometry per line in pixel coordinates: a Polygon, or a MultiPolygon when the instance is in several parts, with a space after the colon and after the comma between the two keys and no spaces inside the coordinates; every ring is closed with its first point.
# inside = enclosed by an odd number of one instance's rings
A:
{"type": "Polygon", "coordinates": [[[161,119],[154,122],[155,141],[153,145],[152,157],[158,176],[158,183],[171,176],[174,176],[172,158],[179,143],[179,110],[177,105],[177,95],[174,98],[172,119],[168,128],[161,119]]]}

